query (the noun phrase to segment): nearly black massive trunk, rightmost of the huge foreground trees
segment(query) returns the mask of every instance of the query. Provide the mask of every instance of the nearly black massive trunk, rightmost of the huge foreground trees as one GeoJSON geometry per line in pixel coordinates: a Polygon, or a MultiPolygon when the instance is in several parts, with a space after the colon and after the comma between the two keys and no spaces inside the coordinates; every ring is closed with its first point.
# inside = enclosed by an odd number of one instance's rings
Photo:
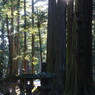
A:
{"type": "Polygon", "coordinates": [[[92,89],[92,0],[77,0],[77,64],[75,95],[91,95],[92,89]]]}

